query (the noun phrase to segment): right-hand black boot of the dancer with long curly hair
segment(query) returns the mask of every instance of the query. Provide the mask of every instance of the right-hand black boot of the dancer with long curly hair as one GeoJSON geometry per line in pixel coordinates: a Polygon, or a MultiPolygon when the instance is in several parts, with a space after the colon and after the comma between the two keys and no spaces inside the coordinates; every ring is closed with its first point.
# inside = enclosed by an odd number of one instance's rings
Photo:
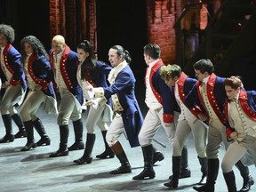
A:
{"type": "Polygon", "coordinates": [[[42,121],[37,118],[35,121],[33,121],[33,124],[35,126],[36,132],[40,135],[41,139],[36,142],[36,146],[43,146],[43,145],[50,145],[51,140],[47,133],[45,132],[44,125],[42,124],[42,121]]]}

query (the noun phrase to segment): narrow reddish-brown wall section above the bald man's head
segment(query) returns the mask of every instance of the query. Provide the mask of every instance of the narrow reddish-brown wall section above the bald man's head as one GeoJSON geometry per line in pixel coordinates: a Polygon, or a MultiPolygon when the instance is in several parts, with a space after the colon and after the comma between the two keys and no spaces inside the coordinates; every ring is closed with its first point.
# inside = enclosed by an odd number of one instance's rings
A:
{"type": "Polygon", "coordinates": [[[86,15],[85,0],[50,0],[50,42],[60,34],[76,51],[77,44],[87,37],[86,15]]]}

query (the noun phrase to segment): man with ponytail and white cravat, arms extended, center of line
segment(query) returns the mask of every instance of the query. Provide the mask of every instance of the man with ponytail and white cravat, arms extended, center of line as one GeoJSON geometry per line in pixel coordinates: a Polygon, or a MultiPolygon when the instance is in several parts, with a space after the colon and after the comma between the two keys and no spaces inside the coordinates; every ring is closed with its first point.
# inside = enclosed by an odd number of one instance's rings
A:
{"type": "Polygon", "coordinates": [[[97,105],[102,105],[111,97],[115,117],[109,125],[106,140],[121,166],[111,171],[110,174],[128,173],[132,172],[132,168],[118,138],[124,132],[132,148],[139,146],[138,134],[143,123],[143,116],[135,97],[136,80],[129,66],[132,60],[130,53],[122,46],[115,45],[109,49],[108,60],[113,67],[108,75],[110,86],[98,88],[89,86],[88,89],[94,92],[95,99],[88,101],[87,105],[96,108],[97,105]]]}

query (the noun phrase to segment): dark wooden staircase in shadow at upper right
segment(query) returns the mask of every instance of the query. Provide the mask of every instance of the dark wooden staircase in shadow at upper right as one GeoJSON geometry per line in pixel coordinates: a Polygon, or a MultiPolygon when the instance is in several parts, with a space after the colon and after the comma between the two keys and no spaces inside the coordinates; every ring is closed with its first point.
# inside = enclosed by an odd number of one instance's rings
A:
{"type": "Polygon", "coordinates": [[[193,64],[207,58],[218,76],[235,75],[236,60],[252,50],[256,50],[256,0],[226,0],[204,29],[196,53],[183,63],[183,71],[194,76],[193,64]]]}

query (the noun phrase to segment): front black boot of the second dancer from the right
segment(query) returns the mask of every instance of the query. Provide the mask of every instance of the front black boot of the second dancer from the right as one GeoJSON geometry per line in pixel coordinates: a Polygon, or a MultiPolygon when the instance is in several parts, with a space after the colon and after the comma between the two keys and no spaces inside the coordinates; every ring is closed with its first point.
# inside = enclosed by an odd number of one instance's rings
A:
{"type": "Polygon", "coordinates": [[[219,173],[219,159],[208,159],[208,173],[206,183],[201,187],[193,187],[196,191],[214,192],[215,181],[219,173]]]}

